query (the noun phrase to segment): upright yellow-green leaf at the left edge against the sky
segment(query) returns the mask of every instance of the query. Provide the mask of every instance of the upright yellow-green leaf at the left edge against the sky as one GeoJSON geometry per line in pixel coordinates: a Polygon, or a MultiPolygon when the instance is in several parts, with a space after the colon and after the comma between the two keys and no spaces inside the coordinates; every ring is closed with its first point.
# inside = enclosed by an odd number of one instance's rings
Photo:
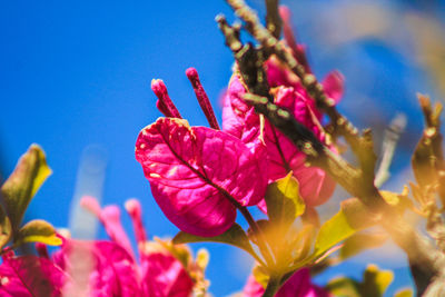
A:
{"type": "Polygon", "coordinates": [[[44,152],[39,146],[31,145],[1,187],[13,230],[19,228],[29,202],[50,175],[51,169],[47,165],[44,152]]]}

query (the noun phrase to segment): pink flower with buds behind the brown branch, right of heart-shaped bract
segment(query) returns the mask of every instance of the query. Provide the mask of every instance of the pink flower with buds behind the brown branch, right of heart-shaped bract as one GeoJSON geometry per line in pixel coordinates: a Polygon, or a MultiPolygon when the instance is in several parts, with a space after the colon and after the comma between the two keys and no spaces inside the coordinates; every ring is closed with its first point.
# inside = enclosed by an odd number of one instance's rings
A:
{"type": "MultiPolygon", "coordinates": [[[[284,12],[286,11],[281,9],[281,14],[284,12]]],[[[295,40],[289,40],[293,34],[287,23],[288,17],[285,16],[283,19],[285,20],[286,41],[290,44],[288,50],[296,58],[303,59],[301,57],[305,57],[303,48],[295,46],[295,40]]],[[[326,142],[320,123],[323,115],[301,87],[299,79],[274,57],[266,61],[265,67],[274,102],[288,109],[300,123],[310,129],[319,140],[326,142]]],[[[343,95],[342,75],[332,72],[323,86],[334,101],[339,100],[343,95]]],[[[246,92],[247,89],[239,75],[234,75],[224,99],[222,130],[241,139],[253,151],[267,160],[269,182],[285,177],[288,171],[293,170],[299,181],[300,195],[305,202],[308,206],[324,204],[334,191],[334,180],[319,168],[306,167],[305,156],[267,120],[261,129],[259,116],[243,99],[246,92]],[[266,149],[264,149],[264,145],[266,145],[266,149]]],[[[264,209],[265,204],[261,204],[260,207],[264,209]]]]}

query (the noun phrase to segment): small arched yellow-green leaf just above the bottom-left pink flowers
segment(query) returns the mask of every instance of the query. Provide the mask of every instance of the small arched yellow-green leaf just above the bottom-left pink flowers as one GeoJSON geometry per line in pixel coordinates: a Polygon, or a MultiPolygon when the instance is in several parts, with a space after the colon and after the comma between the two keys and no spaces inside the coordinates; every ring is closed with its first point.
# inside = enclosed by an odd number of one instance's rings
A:
{"type": "Polygon", "coordinates": [[[60,246],[62,240],[56,236],[55,228],[41,219],[31,220],[18,232],[17,244],[42,242],[49,246],[60,246]]]}

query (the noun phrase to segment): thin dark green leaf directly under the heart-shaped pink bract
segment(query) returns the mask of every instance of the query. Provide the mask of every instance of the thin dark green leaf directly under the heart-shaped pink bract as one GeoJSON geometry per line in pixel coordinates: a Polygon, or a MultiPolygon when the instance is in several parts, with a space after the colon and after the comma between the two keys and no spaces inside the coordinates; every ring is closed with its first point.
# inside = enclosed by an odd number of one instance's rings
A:
{"type": "Polygon", "coordinates": [[[251,248],[251,245],[249,242],[246,232],[238,224],[234,224],[234,226],[231,226],[230,229],[215,237],[201,237],[180,231],[175,236],[172,242],[175,245],[190,244],[190,242],[222,242],[233,245],[235,247],[239,247],[249,253],[250,255],[255,255],[255,251],[251,248]]]}

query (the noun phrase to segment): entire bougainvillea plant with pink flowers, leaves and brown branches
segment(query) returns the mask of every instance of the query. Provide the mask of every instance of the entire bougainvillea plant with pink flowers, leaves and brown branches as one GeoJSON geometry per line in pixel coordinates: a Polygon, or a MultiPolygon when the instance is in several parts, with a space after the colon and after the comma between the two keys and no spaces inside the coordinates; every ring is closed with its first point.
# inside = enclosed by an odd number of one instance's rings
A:
{"type": "MultiPolygon", "coordinates": [[[[407,256],[416,295],[445,296],[442,106],[432,107],[419,96],[426,128],[412,159],[415,182],[402,194],[380,190],[385,175],[375,172],[387,170],[387,162],[376,168],[372,130],[358,131],[336,108],[343,76],[334,70],[318,82],[305,47],[295,39],[289,11],[278,0],[266,0],[266,26],[243,0],[227,2],[244,26],[217,17],[235,58],[222,123],[197,70],[189,68],[186,76],[209,127],[190,126],[165,83],[152,80],[165,117],[144,128],[136,141],[151,194],[180,231],[171,241],[148,240],[141,207],[129,200],[135,253],[119,208],[102,209],[91,197],[82,205],[102,222],[109,240],[77,240],[42,220],[21,226],[30,199],[51,172],[33,145],[1,187],[2,296],[208,296],[208,255],[200,250],[192,259],[184,245],[204,241],[233,245],[256,260],[237,296],[383,296],[393,274],[374,265],[362,280],[336,278],[322,287],[312,276],[388,238],[407,256]],[[241,30],[257,44],[243,42],[241,30]],[[345,149],[356,165],[342,157],[345,149]],[[353,198],[320,221],[316,207],[336,184],[353,198]],[[264,216],[254,217],[251,207],[264,216]],[[238,212],[248,228],[236,222],[238,212]],[[406,212],[423,218],[425,231],[406,220],[406,212]],[[26,242],[36,242],[37,255],[16,255],[26,242]],[[49,255],[47,245],[60,249],[49,255]]],[[[412,295],[411,289],[397,294],[412,295]]]]}

